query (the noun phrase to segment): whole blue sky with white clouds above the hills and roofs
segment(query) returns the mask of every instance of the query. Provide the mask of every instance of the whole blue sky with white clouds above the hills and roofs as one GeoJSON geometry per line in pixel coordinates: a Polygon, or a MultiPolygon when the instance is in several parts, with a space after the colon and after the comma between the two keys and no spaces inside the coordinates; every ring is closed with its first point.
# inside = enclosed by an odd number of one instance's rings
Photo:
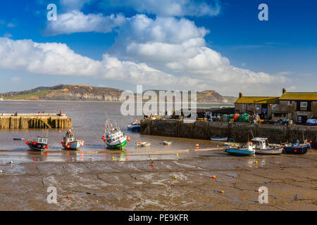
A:
{"type": "Polygon", "coordinates": [[[299,0],[1,1],[0,92],[58,84],[316,91],[316,9],[299,0]],[[260,4],[268,20],[259,20],[260,4]]]}

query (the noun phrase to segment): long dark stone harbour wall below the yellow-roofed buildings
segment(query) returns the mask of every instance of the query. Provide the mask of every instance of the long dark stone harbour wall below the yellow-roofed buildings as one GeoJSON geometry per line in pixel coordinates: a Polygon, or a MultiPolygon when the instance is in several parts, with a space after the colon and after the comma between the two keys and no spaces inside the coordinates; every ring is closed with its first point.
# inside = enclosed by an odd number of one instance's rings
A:
{"type": "Polygon", "coordinates": [[[270,143],[285,143],[304,138],[313,141],[317,147],[317,127],[287,126],[278,124],[249,124],[243,122],[197,121],[184,123],[182,120],[144,119],[140,127],[141,134],[156,136],[175,136],[187,139],[206,139],[211,136],[230,137],[236,142],[247,142],[252,137],[267,137],[270,143]],[[253,134],[253,135],[252,135],[253,134]]]}

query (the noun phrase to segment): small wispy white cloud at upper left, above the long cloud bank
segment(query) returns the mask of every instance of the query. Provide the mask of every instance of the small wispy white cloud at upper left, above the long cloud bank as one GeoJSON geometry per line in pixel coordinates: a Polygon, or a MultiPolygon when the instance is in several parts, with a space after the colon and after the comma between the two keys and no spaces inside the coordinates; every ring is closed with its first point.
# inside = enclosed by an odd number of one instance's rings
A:
{"type": "Polygon", "coordinates": [[[125,23],[125,16],[111,14],[104,16],[99,14],[87,14],[73,10],[58,15],[56,21],[49,21],[46,34],[72,34],[75,32],[111,32],[113,28],[125,23]]]}

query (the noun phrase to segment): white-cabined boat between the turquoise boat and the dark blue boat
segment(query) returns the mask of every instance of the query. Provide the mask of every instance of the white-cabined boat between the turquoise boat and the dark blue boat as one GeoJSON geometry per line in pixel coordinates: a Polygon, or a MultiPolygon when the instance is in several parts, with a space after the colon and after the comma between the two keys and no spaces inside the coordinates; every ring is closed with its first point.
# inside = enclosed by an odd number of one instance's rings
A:
{"type": "Polygon", "coordinates": [[[269,145],[267,138],[254,138],[251,139],[252,143],[255,144],[256,154],[259,155],[280,155],[282,154],[282,146],[269,145]]]}

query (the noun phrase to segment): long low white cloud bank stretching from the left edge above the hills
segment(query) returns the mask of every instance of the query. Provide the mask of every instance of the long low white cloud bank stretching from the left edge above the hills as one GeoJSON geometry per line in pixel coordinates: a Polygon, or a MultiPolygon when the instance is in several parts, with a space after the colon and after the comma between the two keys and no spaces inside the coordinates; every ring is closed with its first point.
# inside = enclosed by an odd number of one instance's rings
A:
{"type": "Polygon", "coordinates": [[[104,54],[102,60],[93,60],[75,53],[66,44],[0,38],[0,58],[0,69],[38,75],[84,76],[163,86],[176,83],[190,86],[197,83],[189,77],[184,77],[180,82],[179,77],[151,68],[145,63],[119,60],[108,54],[104,54]]]}

